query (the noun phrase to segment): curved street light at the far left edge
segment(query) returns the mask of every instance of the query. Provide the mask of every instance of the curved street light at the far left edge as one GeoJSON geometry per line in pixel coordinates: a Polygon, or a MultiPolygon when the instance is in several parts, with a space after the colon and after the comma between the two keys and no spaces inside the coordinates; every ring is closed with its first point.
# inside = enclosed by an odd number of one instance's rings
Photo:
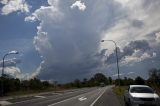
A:
{"type": "Polygon", "coordinates": [[[4,86],[3,86],[3,77],[4,77],[4,59],[5,59],[5,57],[7,56],[7,55],[10,55],[10,54],[19,54],[19,52],[18,51],[10,51],[10,52],[8,52],[7,54],[5,54],[4,56],[3,56],[3,63],[2,63],[2,82],[1,82],[1,95],[3,96],[3,93],[4,93],[4,86]]]}

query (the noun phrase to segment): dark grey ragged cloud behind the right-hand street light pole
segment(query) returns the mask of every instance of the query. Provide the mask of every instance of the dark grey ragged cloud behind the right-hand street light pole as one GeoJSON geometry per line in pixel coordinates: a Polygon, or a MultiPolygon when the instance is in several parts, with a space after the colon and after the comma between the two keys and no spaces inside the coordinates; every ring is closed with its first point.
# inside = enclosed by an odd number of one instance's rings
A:
{"type": "MultiPolygon", "coordinates": [[[[142,56],[144,53],[147,53],[148,55],[152,55],[150,52],[150,45],[146,40],[137,40],[137,41],[131,41],[127,46],[125,46],[122,50],[120,48],[117,48],[118,51],[118,59],[119,61],[123,61],[124,58],[127,56],[132,56],[133,54],[136,54],[136,57],[142,56]]],[[[107,60],[105,61],[107,64],[116,63],[116,51],[114,50],[113,53],[111,53],[107,60]]]]}

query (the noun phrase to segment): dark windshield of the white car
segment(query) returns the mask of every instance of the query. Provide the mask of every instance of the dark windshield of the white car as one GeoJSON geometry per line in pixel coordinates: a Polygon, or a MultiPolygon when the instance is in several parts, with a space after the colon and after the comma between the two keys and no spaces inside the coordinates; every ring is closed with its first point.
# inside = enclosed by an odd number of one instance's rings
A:
{"type": "Polygon", "coordinates": [[[131,93],[153,93],[153,90],[149,87],[133,87],[131,93]]]}

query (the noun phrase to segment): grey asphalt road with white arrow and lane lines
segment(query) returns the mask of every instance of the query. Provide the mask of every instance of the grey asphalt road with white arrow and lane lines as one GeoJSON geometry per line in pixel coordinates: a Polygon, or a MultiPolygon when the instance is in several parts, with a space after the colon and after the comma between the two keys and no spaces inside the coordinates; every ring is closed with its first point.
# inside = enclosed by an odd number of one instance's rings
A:
{"type": "Polygon", "coordinates": [[[8,106],[121,106],[112,92],[112,86],[49,93],[6,102],[8,106]]]}

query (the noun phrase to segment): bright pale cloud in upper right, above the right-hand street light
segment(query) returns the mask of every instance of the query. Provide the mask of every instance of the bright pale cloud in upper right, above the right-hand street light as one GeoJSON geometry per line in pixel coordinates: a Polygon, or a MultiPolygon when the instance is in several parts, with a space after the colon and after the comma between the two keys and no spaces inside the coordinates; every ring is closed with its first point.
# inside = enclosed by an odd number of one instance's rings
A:
{"type": "MultiPolygon", "coordinates": [[[[104,33],[104,39],[112,39],[123,48],[133,40],[150,40],[148,34],[160,30],[157,23],[160,19],[158,6],[160,2],[147,0],[116,0],[123,5],[124,13],[118,22],[104,33]]],[[[107,46],[108,48],[111,48],[107,46]]]]}

